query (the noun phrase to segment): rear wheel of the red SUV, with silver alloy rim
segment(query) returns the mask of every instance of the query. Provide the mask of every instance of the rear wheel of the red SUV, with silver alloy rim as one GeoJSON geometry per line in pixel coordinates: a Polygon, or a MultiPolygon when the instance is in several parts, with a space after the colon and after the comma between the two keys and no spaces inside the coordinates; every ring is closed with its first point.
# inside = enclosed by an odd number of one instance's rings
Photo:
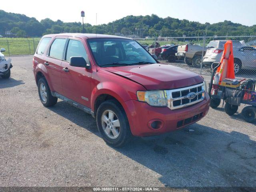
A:
{"type": "Polygon", "coordinates": [[[44,77],[38,80],[38,94],[42,104],[45,107],[54,106],[58,101],[57,97],[52,96],[51,90],[44,77]]]}

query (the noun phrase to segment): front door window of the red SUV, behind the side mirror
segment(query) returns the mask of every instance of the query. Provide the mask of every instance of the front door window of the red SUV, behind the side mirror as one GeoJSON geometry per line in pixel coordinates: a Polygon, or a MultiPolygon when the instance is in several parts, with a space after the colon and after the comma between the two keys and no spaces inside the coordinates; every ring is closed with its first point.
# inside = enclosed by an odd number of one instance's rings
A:
{"type": "Polygon", "coordinates": [[[68,42],[66,61],[70,61],[70,57],[83,57],[86,63],[89,64],[89,59],[82,42],[70,39],[68,42]]]}

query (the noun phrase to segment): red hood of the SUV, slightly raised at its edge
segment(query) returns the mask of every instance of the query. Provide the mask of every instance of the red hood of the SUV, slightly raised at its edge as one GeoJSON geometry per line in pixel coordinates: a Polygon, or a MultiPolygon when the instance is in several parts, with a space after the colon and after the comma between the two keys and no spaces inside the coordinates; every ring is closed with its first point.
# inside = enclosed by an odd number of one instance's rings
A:
{"type": "Polygon", "coordinates": [[[182,88],[203,81],[203,78],[194,72],[168,64],[106,67],[102,70],[135,81],[147,90],[182,88]]]}

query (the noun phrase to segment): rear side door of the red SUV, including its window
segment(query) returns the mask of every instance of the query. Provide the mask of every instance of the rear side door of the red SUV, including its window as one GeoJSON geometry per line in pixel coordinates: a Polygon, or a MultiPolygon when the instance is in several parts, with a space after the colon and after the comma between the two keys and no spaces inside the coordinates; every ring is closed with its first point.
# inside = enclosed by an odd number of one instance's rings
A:
{"type": "Polygon", "coordinates": [[[56,37],[48,50],[48,54],[45,57],[44,62],[52,84],[52,91],[59,94],[63,94],[61,84],[61,63],[63,59],[66,40],[67,37],[64,36],[56,37]]]}

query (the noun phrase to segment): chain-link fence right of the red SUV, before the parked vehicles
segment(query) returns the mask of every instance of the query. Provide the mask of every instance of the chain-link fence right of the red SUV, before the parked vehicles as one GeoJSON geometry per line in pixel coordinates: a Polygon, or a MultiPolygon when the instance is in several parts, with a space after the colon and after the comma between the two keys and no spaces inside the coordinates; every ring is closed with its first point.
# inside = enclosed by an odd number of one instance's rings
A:
{"type": "Polygon", "coordinates": [[[211,75],[211,64],[220,62],[226,40],[233,42],[236,77],[256,78],[256,36],[198,36],[135,38],[162,62],[211,75]]]}

